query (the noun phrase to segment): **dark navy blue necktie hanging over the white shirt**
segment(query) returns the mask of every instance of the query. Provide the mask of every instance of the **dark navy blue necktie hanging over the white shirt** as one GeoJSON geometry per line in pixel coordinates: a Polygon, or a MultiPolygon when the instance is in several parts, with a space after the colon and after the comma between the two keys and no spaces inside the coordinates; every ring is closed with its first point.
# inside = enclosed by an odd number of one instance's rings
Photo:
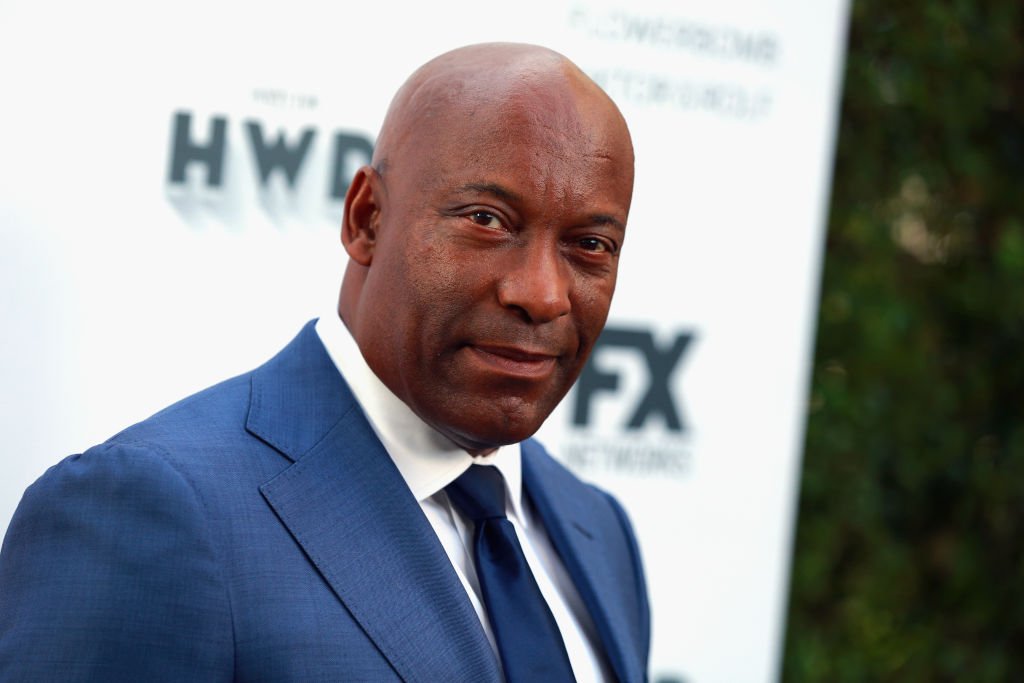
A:
{"type": "Polygon", "coordinates": [[[488,465],[471,465],[445,490],[475,525],[476,575],[505,679],[508,683],[574,681],[558,625],[505,516],[502,473],[488,465]]]}

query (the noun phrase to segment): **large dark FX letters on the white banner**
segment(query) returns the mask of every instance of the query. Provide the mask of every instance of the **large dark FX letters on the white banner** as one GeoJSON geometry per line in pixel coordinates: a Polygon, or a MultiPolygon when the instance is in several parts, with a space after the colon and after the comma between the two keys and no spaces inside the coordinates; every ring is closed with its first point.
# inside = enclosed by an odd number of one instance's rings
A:
{"type": "Polygon", "coordinates": [[[626,422],[626,428],[640,429],[647,420],[659,415],[669,431],[684,431],[685,426],[672,395],[669,380],[692,340],[692,333],[683,332],[677,335],[671,344],[663,347],[655,343],[654,336],[649,330],[605,328],[594,344],[593,354],[577,382],[572,424],[584,426],[590,423],[590,409],[594,394],[600,391],[614,392],[618,389],[620,376],[598,368],[594,358],[600,355],[602,348],[621,347],[640,353],[647,366],[648,375],[646,390],[633,409],[631,417],[626,422]]]}

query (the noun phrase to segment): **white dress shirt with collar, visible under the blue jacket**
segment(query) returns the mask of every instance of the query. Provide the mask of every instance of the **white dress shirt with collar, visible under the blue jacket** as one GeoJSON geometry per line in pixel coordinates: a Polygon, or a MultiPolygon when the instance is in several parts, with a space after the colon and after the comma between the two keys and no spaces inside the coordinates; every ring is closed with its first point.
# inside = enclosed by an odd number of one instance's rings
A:
{"type": "MultiPolygon", "coordinates": [[[[316,322],[316,334],[437,533],[496,656],[498,648],[473,566],[473,527],[452,507],[444,493],[444,487],[470,465],[493,465],[505,478],[506,514],[561,631],[577,680],[581,683],[611,680],[594,623],[540,519],[522,495],[519,444],[502,446],[486,456],[469,455],[423,422],[380,381],[336,312],[316,322]]],[[[500,661],[499,658],[499,665],[500,661]]]]}

